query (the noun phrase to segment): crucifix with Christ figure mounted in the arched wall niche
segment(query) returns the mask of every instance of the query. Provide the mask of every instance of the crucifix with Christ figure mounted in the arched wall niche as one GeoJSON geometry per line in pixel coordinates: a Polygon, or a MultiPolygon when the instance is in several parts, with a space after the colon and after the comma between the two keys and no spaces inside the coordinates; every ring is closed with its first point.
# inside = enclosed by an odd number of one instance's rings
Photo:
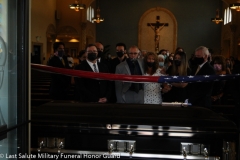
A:
{"type": "Polygon", "coordinates": [[[159,51],[159,41],[160,41],[160,31],[163,27],[168,26],[168,23],[160,23],[160,16],[156,17],[156,23],[148,23],[147,26],[150,26],[155,32],[155,51],[159,51]]]}

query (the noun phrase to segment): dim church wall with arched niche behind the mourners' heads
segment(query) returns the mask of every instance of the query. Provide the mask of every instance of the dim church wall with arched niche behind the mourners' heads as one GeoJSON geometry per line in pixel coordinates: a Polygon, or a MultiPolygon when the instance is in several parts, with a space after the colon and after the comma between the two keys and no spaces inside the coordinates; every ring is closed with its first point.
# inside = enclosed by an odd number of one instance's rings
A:
{"type": "Polygon", "coordinates": [[[107,54],[112,57],[116,56],[115,44],[123,42],[127,47],[137,45],[151,52],[167,49],[173,53],[182,47],[189,58],[198,46],[206,46],[215,55],[239,58],[240,12],[229,8],[234,3],[235,0],[32,0],[29,50],[38,55],[41,64],[47,63],[55,41],[65,43],[66,52],[76,63],[78,52],[96,41],[107,46],[107,54]],[[69,8],[77,3],[85,5],[85,9],[69,8]],[[97,9],[103,19],[99,23],[93,21],[97,9]],[[155,23],[157,16],[167,26],[159,32],[156,50],[155,31],[147,24],[155,23]],[[212,21],[216,17],[223,21],[212,21]]]}

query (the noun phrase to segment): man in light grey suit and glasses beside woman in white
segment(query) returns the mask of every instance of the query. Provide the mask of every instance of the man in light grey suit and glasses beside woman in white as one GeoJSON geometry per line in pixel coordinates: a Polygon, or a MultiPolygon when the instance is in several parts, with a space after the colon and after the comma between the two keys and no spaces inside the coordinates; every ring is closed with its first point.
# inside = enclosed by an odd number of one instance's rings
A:
{"type": "MultiPolygon", "coordinates": [[[[140,50],[131,46],[124,62],[116,67],[116,74],[143,75],[143,60],[137,58],[140,50]]],[[[143,84],[115,81],[117,103],[144,103],[143,84]]]]}

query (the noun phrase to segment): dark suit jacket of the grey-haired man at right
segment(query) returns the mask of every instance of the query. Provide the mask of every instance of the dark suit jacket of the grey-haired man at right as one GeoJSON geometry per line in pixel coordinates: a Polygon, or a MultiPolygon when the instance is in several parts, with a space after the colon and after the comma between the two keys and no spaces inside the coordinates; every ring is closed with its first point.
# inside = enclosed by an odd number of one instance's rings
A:
{"type": "MultiPolygon", "coordinates": [[[[197,67],[191,72],[195,75],[197,67]]],[[[206,62],[196,75],[215,75],[214,68],[206,62]]],[[[188,84],[188,101],[194,106],[211,107],[211,94],[214,82],[195,82],[188,84]]]]}

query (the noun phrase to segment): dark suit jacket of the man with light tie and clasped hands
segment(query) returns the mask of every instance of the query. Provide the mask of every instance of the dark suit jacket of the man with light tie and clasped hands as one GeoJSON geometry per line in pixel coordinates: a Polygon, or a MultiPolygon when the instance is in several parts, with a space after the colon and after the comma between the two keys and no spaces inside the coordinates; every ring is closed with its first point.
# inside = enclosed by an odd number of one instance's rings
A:
{"type": "MultiPolygon", "coordinates": [[[[98,63],[99,72],[108,73],[108,69],[104,64],[98,63]]],[[[78,65],[76,70],[93,72],[87,61],[83,61],[78,65]]],[[[111,95],[111,83],[106,80],[96,80],[89,78],[75,78],[76,97],[83,102],[98,102],[99,98],[106,97],[109,100],[111,95]]]]}

